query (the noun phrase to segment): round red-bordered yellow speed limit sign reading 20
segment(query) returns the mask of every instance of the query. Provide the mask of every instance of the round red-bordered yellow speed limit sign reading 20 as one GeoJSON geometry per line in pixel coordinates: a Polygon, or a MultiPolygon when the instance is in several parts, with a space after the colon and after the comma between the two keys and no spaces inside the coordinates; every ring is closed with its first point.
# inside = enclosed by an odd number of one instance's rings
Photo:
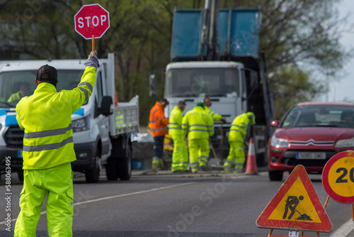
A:
{"type": "Polygon", "coordinates": [[[344,204],[354,203],[354,151],[347,150],[326,163],[322,184],[329,197],[344,204]]]}

